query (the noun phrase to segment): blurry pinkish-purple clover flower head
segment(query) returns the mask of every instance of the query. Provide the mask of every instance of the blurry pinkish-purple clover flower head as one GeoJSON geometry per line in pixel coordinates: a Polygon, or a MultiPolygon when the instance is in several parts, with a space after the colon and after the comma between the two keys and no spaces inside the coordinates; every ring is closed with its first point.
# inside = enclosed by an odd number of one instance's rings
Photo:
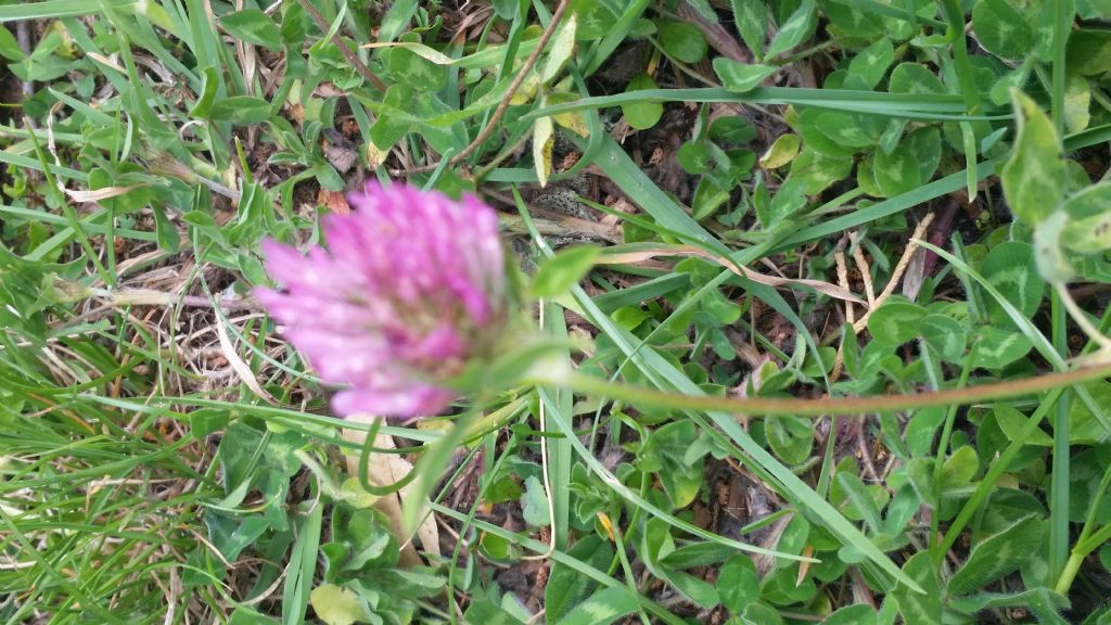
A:
{"type": "Polygon", "coordinates": [[[346,388],[340,416],[413,418],[447,408],[446,381],[489,356],[506,320],[498,216],[406,185],[370,183],[323,220],[328,250],[262,242],[283,291],[256,290],[321,379],[346,388]]]}

